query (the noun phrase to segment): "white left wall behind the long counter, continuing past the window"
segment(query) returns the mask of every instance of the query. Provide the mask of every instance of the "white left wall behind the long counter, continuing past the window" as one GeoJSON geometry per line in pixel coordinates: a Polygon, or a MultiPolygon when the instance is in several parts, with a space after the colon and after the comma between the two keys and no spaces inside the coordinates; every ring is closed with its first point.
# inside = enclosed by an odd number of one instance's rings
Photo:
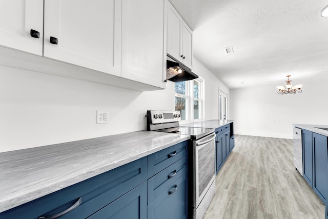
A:
{"type": "MultiPolygon", "coordinates": [[[[198,61],[195,72],[205,79],[206,119],[217,118],[223,85],[198,61]]],[[[173,82],[139,92],[0,66],[0,152],[146,130],[148,109],[174,110],[173,82]],[[110,112],[108,124],[96,124],[96,110],[110,112]]]]}

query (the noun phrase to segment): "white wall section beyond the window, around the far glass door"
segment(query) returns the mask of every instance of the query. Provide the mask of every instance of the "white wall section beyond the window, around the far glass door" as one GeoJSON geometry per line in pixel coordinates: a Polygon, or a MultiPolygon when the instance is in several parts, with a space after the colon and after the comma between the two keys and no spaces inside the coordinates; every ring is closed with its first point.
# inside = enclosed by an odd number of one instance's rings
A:
{"type": "Polygon", "coordinates": [[[218,88],[228,94],[228,119],[231,118],[229,113],[230,90],[224,85],[209,69],[204,67],[196,58],[194,58],[193,71],[201,76],[205,81],[205,120],[217,120],[219,118],[219,95],[218,88]]]}

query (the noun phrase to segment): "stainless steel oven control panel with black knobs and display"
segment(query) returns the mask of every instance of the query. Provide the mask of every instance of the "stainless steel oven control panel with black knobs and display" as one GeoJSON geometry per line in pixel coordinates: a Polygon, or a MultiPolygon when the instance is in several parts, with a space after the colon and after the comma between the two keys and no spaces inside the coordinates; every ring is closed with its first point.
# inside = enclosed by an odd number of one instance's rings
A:
{"type": "Polygon", "coordinates": [[[181,121],[180,111],[148,110],[147,118],[150,124],[171,123],[181,121]]]}

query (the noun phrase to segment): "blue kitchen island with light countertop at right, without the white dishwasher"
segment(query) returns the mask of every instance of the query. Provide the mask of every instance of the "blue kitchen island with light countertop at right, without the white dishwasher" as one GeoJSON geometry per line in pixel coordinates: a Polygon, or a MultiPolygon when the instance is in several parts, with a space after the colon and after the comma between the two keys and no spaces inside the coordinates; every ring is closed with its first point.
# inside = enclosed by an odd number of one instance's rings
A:
{"type": "Polygon", "coordinates": [[[328,125],[293,124],[302,130],[303,177],[326,205],[328,219],[328,125]]]}

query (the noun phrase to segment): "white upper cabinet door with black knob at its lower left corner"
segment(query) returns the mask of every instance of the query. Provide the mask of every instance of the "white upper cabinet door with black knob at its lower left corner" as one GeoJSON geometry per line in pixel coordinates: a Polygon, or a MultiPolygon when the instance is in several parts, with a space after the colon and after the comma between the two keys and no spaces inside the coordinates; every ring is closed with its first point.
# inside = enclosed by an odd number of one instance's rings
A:
{"type": "Polygon", "coordinates": [[[45,57],[120,76],[121,0],[46,0],[44,23],[45,57]]]}

